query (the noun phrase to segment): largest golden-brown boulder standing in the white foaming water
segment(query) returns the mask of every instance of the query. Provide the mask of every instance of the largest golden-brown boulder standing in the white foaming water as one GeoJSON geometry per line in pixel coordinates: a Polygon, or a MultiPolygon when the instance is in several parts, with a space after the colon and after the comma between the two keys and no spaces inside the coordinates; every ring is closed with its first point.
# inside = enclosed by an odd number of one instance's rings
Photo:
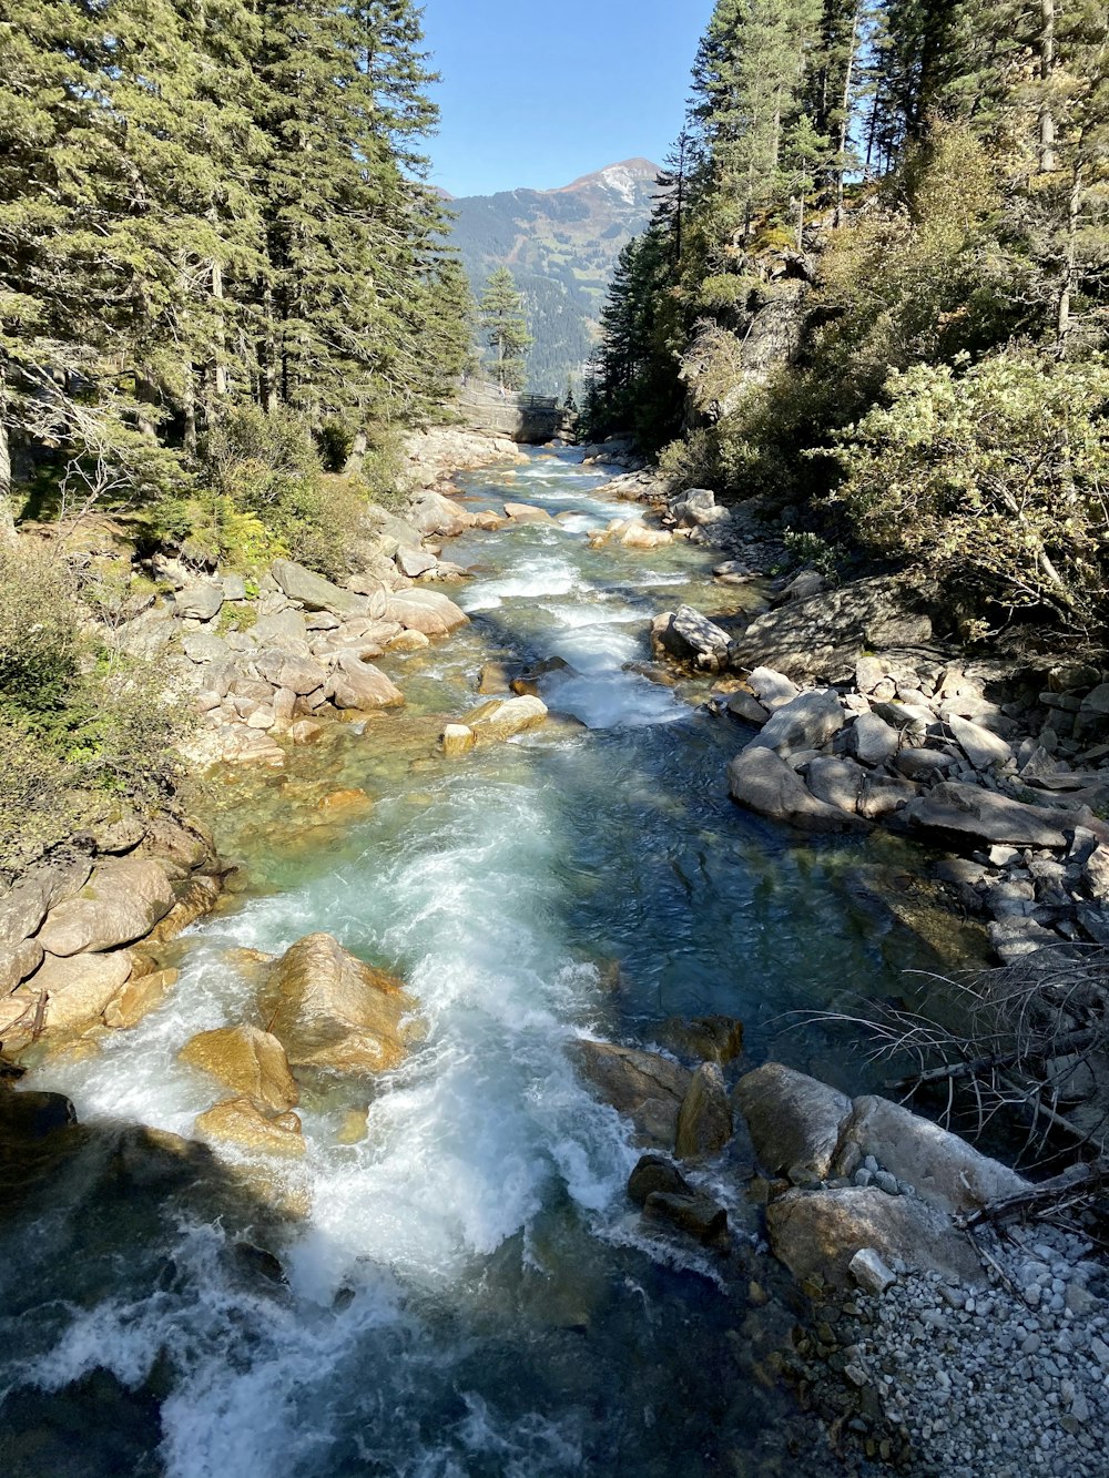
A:
{"type": "Polygon", "coordinates": [[[293,1067],[379,1073],[404,1061],[420,1033],[404,983],[356,959],[330,934],[309,934],[272,967],[262,1017],[293,1067]]]}

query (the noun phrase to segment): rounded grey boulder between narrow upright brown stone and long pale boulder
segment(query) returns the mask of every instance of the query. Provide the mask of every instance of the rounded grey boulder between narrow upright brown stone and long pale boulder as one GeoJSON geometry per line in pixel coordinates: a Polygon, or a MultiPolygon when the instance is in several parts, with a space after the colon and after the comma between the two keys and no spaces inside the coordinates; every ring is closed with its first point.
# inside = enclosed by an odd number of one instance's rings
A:
{"type": "Polygon", "coordinates": [[[739,1079],[735,1104],[769,1175],[794,1185],[827,1178],[840,1125],[852,1111],[846,1094],[781,1063],[764,1063],[739,1079]]]}

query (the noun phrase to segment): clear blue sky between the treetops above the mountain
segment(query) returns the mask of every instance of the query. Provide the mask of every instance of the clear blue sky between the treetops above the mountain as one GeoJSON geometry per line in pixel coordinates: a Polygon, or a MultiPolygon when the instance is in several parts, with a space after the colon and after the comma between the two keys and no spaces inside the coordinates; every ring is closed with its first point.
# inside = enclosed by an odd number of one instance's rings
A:
{"type": "Polygon", "coordinates": [[[682,126],[713,0],[424,0],[442,72],[432,183],[549,189],[617,160],[657,164],[682,126]]]}

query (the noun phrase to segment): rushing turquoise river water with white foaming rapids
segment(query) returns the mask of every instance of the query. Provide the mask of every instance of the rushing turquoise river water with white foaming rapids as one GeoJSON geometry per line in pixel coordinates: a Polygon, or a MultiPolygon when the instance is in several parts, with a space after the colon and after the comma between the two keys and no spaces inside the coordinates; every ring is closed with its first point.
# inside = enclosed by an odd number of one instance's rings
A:
{"type": "Polygon", "coordinates": [[[688,544],[590,550],[623,511],[603,480],[569,454],[464,479],[475,505],[569,516],[448,545],[475,572],[455,596],[472,624],[381,664],[404,714],[285,774],[231,777],[220,842],[247,891],[179,943],[180,981],[140,1027],[30,1075],[89,1134],[0,1222],[12,1478],[834,1471],[767,1364],[790,1312],[750,1284],[787,1283],[756,1249],[742,1141],[707,1175],[733,1255],[649,1234],[624,1191],[628,1125],[566,1043],[651,1043],[667,1018],[725,1012],[747,1066],[778,1055],[858,1091],[843,1041],[787,1014],[898,993],[936,956],[883,903],[903,851],[801,847],[729,803],[745,732],[696,706],[707,684],[637,667],[658,610],[726,616],[745,597],[688,544]],[[574,723],[438,755],[484,662],[550,656],[568,665],[543,696],[574,723]],[[340,786],[376,804],[328,819],[340,786]],[[377,1083],[305,1083],[308,1156],[265,1182],[135,1171],[121,1125],[189,1135],[219,1097],[176,1054],[251,1017],[243,952],[316,930],[405,975],[426,1042],[377,1083]]]}

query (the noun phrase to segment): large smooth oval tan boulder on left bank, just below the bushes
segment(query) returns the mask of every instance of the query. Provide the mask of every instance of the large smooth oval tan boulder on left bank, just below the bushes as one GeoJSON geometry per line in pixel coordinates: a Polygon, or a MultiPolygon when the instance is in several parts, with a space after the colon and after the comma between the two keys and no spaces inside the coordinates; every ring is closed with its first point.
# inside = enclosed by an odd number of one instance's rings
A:
{"type": "Polygon", "coordinates": [[[142,939],[176,902],[164,869],[145,857],[99,863],[77,897],[50,909],[37,939],[50,955],[98,953],[142,939]]]}

